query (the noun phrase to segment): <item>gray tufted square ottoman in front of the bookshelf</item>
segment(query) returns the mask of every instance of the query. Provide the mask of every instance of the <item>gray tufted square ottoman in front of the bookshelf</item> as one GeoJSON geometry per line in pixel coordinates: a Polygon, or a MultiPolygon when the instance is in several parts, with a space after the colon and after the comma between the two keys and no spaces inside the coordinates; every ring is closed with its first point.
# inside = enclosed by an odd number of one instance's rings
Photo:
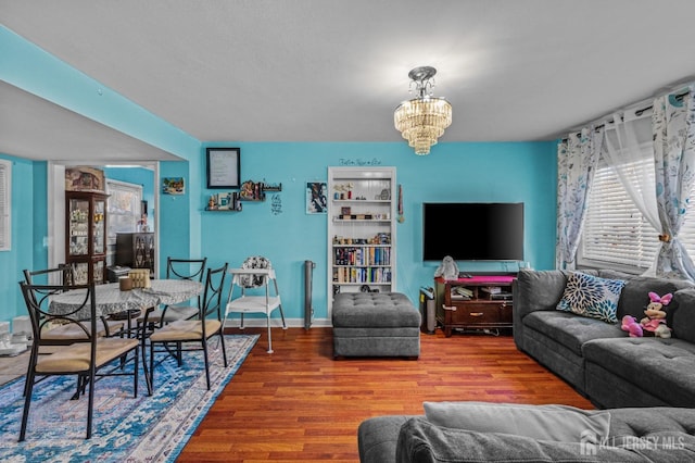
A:
{"type": "Polygon", "coordinates": [[[332,310],[333,358],[420,354],[420,313],[400,292],[341,292],[332,310]]]}

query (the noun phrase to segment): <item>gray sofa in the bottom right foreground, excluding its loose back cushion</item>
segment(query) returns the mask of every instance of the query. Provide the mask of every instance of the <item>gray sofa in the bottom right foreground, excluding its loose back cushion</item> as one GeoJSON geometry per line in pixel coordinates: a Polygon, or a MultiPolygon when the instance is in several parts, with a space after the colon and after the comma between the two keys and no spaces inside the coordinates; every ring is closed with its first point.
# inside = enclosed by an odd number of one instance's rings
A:
{"type": "Polygon", "coordinates": [[[672,462],[695,461],[695,411],[678,408],[607,410],[599,442],[554,441],[435,425],[424,415],[375,416],[357,431],[362,463],[672,462]]]}

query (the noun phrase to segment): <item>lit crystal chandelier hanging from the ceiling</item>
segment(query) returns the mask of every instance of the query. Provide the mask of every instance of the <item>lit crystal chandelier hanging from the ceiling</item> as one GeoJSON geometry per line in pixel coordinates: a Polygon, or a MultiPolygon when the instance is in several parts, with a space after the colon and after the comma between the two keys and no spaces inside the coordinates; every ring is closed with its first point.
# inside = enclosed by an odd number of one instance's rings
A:
{"type": "Polygon", "coordinates": [[[415,154],[430,153],[430,147],[444,135],[452,124],[452,105],[443,98],[432,97],[437,70],[430,66],[416,67],[408,73],[410,91],[415,84],[417,98],[402,102],[393,113],[393,123],[415,154]]]}

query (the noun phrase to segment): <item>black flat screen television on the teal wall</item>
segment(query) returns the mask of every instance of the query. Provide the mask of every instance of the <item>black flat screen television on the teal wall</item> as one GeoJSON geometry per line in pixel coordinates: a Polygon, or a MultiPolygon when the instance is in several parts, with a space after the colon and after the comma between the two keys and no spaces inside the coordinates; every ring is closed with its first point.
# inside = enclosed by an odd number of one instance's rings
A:
{"type": "Polygon", "coordinates": [[[522,261],[522,202],[426,202],[422,260],[522,261]]]}

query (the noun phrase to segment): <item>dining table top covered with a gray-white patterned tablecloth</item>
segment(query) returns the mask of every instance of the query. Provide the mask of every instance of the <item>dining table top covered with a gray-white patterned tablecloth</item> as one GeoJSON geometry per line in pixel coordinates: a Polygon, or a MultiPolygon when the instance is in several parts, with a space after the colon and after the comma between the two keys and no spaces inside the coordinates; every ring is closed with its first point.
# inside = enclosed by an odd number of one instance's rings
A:
{"type": "MultiPolygon", "coordinates": [[[[176,304],[199,296],[203,284],[190,279],[151,279],[149,288],[121,290],[118,283],[94,286],[97,315],[106,316],[129,310],[141,311],[159,304],[176,304]]],[[[72,289],[54,295],[49,311],[55,315],[72,313],[84,305],[87,289],[72,289]]],[[[87,320],[91,316],[89,305],[73,316],[87,320]],[[81,313],[84,311],[84,313],[81,313]]]]}

